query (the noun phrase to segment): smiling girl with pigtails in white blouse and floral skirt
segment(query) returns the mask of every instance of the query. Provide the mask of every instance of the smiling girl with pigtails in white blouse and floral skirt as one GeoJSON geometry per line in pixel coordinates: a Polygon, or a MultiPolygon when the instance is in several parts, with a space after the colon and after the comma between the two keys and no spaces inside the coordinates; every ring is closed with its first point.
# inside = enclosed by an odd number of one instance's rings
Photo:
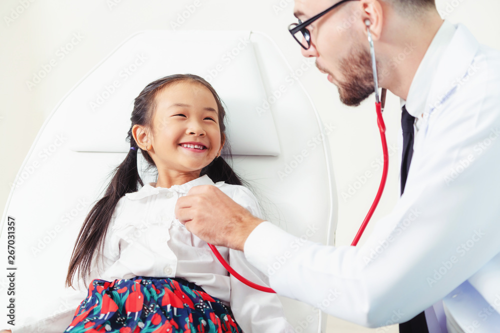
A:
{"type": "MultiPolygon", "coordinates": [[[[205,184],[260,215],[254,196],[220,156],[224,116],[214,89],[196,75],[161,78],[135,98],[130,150],[83,222],[66,285],[75,277],[85,285],[86,278],[97,279],[64,332],[293,332],[276,295],[229,276],[207,243],[174,217],[177,198],[205,184]],[[139,177],[139,149],[158,171],[155,183],[139,177]]],[[[264,283],[242,252],[217,248],[238,273],[264,283]]]]}

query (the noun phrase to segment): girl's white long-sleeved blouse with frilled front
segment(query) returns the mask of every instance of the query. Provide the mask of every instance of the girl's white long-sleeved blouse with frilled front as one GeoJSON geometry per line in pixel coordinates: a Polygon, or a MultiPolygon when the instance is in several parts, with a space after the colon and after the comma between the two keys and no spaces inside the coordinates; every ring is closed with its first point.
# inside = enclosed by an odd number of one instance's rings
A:
{"type": "MultiPolygon", "coordinates": [[[[235,202],[260,217],[261,212],[253,194],[243,186],[224,182],[214,184],[204,175],[170,188],[144,184],[137,192],[127,193],[118,201],[106,233],[101,256],[96,256],[90,278],[111,281],[135,276],[183,278],[212,297],[230,305],[234,319],[243,332],[293,332],[286,322],[281,303],[275,294],[254,290],[229,276],[212,254],[207,243],[191,234],[174,216],[177,199],[198,185],[214,185],[235,202]]],[[[250,266],[240,251],[217,247],[229,265],[246,279],[268,286],[267,278],[250,266]]],[[[87,285],[89,281],[86,281],[87,285]]],[[[81,286],[81,285],[80,285],[81,286]]],[[[80,287],[81,288],[81,287],[80,287]]],[[[82,293],[80,302],[86,295],[82,293]]],[[[74,299],[74,298],[73,298],[74,299]]],[[[29,328],[69,326],[74,309],[55,318],[45,319],[12,330],[13,333],[32,332],[29,328]],[[46,322],[46,323],[45,323],[46,322]],[[50,324],[50,325],[48,325],[50,324]]],[[[57,332],[57,331],[54,331],[57,332]]]]}

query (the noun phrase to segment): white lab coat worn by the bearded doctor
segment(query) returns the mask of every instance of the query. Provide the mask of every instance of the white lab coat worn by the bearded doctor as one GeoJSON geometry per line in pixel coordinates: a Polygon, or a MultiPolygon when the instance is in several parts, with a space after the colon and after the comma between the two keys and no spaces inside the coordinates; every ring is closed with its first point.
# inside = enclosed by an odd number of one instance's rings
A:
{"type": "Polygon", "coordinates": [[[303,242],[270,222],[246,240],[247,260],[278,294],[366,327],[444,299],[448,327],[500,332],[500,52],[452,27],[432,49],[436,66],[417,71],[428,92],[408,109],[418,132],[404,194],[365,243],[303,242]]]}

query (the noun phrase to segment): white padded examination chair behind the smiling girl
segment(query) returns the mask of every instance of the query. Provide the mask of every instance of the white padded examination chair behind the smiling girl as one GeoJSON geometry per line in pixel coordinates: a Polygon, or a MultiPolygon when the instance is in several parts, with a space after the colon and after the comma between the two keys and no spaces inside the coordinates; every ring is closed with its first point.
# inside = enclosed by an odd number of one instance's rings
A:
{"type": "MultiPolygon", "coordinates": [[[[250,31],[143,31],[119,45],[47,118],[8,197],[0,248],[7,249],[10,217],[15,260],[2,266],[16,268],[6,271],[15,272],[16,326],[68,310],[61,297],[77,233],[102,197],[107,175],[128,152],[133,99],[166,75],[197,74],[218,92],[226,105],[234,170],[253,186],[269,221],[333,245],[337,198],[328,130],[294,76],[311,66],[304,60],[302,69],[292,69],[272,40],[250,31]],[[312,236],[311,225],[318,229],[312,236]]],[[[155,181],[145,170],[142,179],[155,181]]],[[[4,312],[8,283],[1,274],[4,312]]],[[[325,332],[320,311],[280,299],[295,332],[325,332]]]]}

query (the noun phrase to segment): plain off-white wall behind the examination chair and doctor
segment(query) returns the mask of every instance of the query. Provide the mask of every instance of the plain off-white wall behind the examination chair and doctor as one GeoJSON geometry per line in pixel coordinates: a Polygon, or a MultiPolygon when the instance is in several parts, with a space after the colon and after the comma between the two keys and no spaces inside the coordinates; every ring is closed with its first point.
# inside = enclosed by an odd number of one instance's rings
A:
{"type": "MultiPolygon", "coordinates": [[[[292,68],[303,60],[286,27],[295,21],[293,0],[197,0],[199,7],[179,30],[257,30],[273,38],[292,68]]],[[[479,42],[500,49],[498,0],[436,0],[451,22],[464,23],[479,42]]],[[[129,35],[143,29],[172,29],[171,22],[194,0],[2,0],[0,4],[0,207],[46,117],[56,104],[98,62],[129,35]],[[74,34],[80,39],[67,54],[60,48],[74,34]],[[39,83],[28,87],[34,73],[51,59],[53,67],[39,83]]],[[[77,41],[77,39],[73,39],[77,41]]],[[[337,89],[311,67],[301,82],[323,122],[335,126],[329,135],[339,195],[337,245],[348,245],[378,188],[381,169],[372,162],[381,155],[373,97],[358,108],[343,106],[337,89]],[[373,176],[356,193],[342,199],[356,177],[373,176]]],[[[134,96],[132,96],[134,97],[134,96]]],[[[388,96],[384,118],[387,142],[395,145],[400,126],[399,100],[388,96]]],[[[373,216],[376,221],[397,199],[397,155],[391,158],[386,191],[373,216]]],[[[26,207],[28,208],[28,207],[26,207]]],[[[368,227],[366,234],[369,234],[368,227]]],[[[361,239],[361,242],[363,240],[361,239]]],[[[375,332],[333,318],[327,332],[375,332]]],[[[397,332],[390,327],[376,332],[397,332]]]]}

